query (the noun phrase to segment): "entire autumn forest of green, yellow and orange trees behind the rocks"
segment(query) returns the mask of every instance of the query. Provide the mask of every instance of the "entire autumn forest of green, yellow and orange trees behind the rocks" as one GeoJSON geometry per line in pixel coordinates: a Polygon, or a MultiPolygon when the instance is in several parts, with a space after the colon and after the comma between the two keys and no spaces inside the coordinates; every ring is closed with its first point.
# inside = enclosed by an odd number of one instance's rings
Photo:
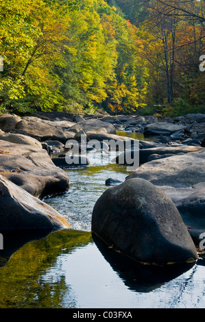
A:
{"type": "Polygon", "coordinates": [[[204,0],[1,0],[0,112],[205,112],[204,13],[204,0]]]}

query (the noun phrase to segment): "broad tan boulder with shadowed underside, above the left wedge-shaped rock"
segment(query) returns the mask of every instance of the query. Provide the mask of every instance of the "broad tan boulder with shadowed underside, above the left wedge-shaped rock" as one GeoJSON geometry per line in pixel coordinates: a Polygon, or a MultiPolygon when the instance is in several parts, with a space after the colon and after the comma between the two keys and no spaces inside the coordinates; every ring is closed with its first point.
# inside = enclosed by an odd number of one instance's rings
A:
{"type": "Polygon", "coordinates": [[[69,189],[67,173],[56,167],[45,149],[0,140],[0,173],[35,197],[69,189]]]}

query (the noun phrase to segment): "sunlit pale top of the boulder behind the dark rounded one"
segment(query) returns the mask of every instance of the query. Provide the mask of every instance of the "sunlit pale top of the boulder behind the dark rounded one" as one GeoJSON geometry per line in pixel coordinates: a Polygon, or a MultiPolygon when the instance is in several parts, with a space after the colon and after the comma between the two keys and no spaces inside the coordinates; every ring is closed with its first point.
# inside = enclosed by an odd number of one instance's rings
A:
{"type": "Polygon", "coordinates": [[[141,165],[127,179],[141,178],[159,186],[174,202],[194,193],[205,182],[205,149],[153,160],[141,165]]]}

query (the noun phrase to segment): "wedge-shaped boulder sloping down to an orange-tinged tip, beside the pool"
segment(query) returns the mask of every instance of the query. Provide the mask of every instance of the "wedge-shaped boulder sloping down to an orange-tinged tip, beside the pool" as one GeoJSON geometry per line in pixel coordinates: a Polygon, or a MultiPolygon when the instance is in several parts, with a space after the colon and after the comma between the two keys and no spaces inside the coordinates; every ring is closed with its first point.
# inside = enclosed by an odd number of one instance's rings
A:
{"type": "Polygon", "coordinates": [[[71,228],[58,211],[0,175],[0,229],[53,230],[71,228]]]}

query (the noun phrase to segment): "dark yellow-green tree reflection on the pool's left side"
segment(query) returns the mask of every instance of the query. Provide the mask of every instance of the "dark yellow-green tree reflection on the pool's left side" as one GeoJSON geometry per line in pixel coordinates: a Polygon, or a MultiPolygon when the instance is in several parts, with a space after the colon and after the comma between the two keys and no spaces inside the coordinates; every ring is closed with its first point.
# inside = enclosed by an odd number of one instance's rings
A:
{"type": "MultiPolygon", "coordinates": [[[[61,308],[70,286],[62,271],[56,271],[56,280],[45,280],[44,276],[51,267],[56,268],[59,256],[84,247],[92,239],[90,233],[77,230],[33,233],[5,234],[5,249],[2,255],[0,252],[1,262],[4,260],[0,267],[1,308],[61,308]]],[[[75,301],[70,302],[75,307],[75,301]]]]}

